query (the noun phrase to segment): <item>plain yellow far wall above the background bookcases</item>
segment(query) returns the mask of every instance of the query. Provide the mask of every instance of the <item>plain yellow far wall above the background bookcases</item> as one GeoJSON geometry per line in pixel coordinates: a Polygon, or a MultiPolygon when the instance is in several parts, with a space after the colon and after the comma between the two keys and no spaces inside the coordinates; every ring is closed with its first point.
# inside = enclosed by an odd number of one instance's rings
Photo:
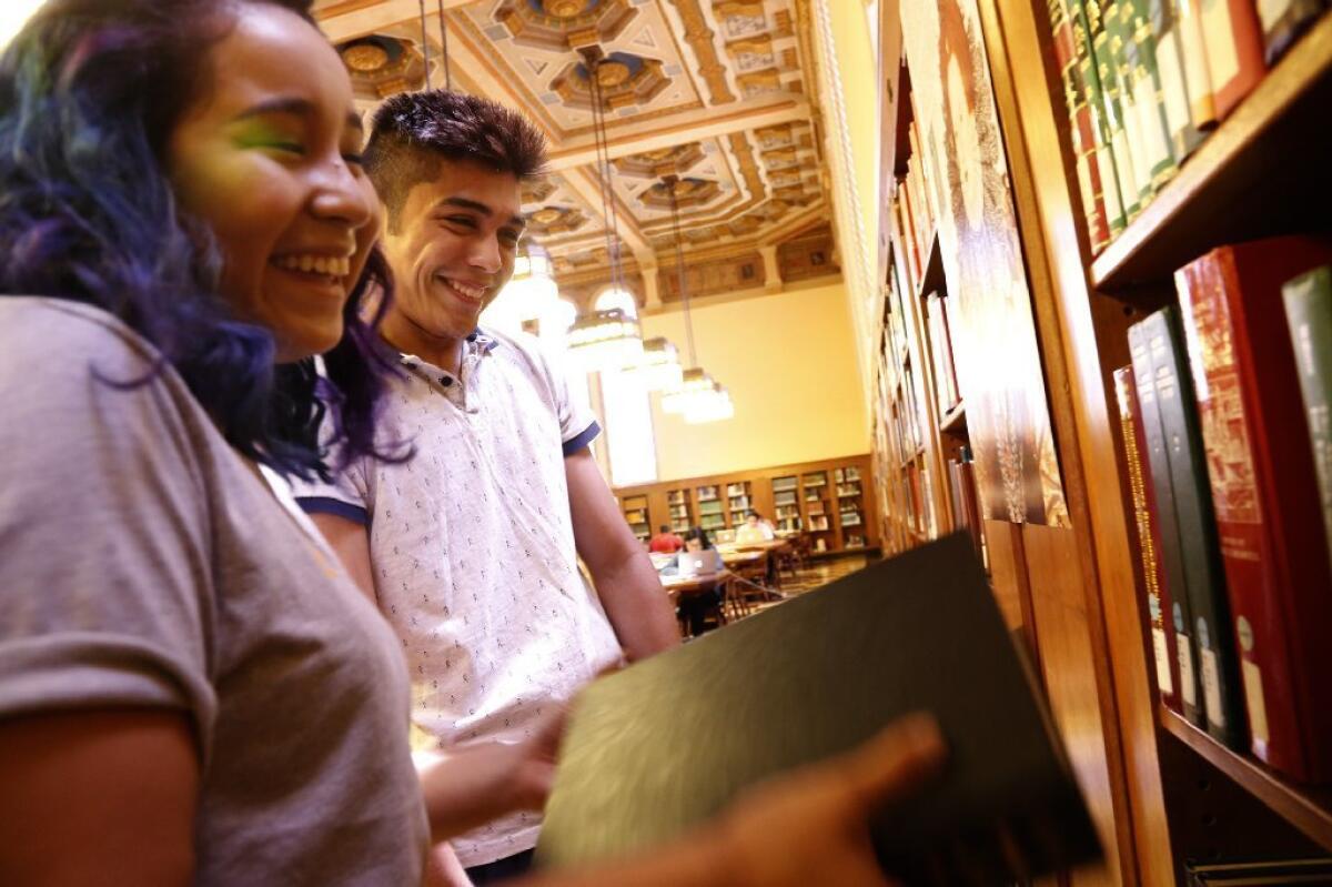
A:
{"type": "MultiPolygon", "coordinates": [[[[689,425],[653,404],[659,481],[864,453],[868,418],[840,281],[690,306],[698,360],[730,389],[735,417],[689,425]]],[[[643,336],[685,349],[679,312],[642,318],[643,336]]]]}

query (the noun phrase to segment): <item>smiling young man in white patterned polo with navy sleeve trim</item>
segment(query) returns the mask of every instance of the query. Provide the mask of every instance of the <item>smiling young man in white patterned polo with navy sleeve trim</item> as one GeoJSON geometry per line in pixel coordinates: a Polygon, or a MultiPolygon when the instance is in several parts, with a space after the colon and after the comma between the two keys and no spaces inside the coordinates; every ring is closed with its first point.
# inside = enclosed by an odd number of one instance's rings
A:
{"type": "MultiPolygon", "coordinates": [[[[298,489],[397,630],[413,721],[440,750],[539,737],[543,713],[621,655],[679,643],[587,449],[591,413],[534,338],[477,326],[513,274],[521,184],[543,162],[542,136],[493,101],[429,91],[381,107],[365,168],[396,281],[381,333],[404,372],[381,433],[416,455],[353,462],[333,485],[298,489]]],[[[542,799],[542,786],[496,790],[497,808],[542,799]]],[[[488,883],[525,867],[538,827],[519,811],[453,846],[488,883]]]]}

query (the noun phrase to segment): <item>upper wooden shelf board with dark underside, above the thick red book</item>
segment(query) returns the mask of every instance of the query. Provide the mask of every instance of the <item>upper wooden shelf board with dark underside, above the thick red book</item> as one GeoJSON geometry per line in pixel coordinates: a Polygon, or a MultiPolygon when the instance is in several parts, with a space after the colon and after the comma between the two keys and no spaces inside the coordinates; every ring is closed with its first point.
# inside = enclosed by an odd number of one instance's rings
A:
{"type": "Polygon", "coordinates": [[[1212,246],[1327,225],[1332,13],[1268,72],[1091,265],[1100,290],[1169,280],[1212,246]],[[1255,194],[1261,193],[1261,200],[1255,194]]]}

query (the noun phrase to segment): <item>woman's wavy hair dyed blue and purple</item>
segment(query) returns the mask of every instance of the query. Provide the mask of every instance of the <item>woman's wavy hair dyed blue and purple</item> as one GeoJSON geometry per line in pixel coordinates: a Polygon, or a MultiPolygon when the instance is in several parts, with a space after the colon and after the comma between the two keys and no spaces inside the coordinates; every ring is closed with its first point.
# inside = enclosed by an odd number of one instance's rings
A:
{"type": "MultiPolygon", "coordinates": [[[[218,294],[212,232],[182,214],[164,172],[172,128],[208,89],[208,49],[240,3],[313,24],[309,0],[48,0],[0,56],[0,293],[87,302],[151,341],[240,453],[326,477],[313,361],[274,366],[273,334],[218,294]]],[[[393,368],[361,305],[389,277],[376,258],[328,356],[333,440],[376,455],[376,404],[393,368]]],[[[384,300],[386,301],[386,300],[384,300]]],[[[149,376],[151,378],[152,376],[149,376]]],[[[147,380],[144,380],[147,381],[147,380]]]]}

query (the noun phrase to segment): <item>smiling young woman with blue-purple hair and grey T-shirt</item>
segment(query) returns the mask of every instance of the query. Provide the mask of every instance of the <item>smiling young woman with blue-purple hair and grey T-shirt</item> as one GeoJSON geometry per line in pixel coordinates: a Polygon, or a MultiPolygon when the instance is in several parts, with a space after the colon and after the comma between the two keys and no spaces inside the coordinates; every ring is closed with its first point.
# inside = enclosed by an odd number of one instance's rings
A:
{"type": "MultiPolygon", "coordinates": [[[[421,880],[398,642],[284,481],[409,457],[361,141],[300,0],[48,0],[0,56],[0,883],[421,880]]],[[[911,722],[533,883],[880,883],[867,811],[938,758],[911,722]]]]}

